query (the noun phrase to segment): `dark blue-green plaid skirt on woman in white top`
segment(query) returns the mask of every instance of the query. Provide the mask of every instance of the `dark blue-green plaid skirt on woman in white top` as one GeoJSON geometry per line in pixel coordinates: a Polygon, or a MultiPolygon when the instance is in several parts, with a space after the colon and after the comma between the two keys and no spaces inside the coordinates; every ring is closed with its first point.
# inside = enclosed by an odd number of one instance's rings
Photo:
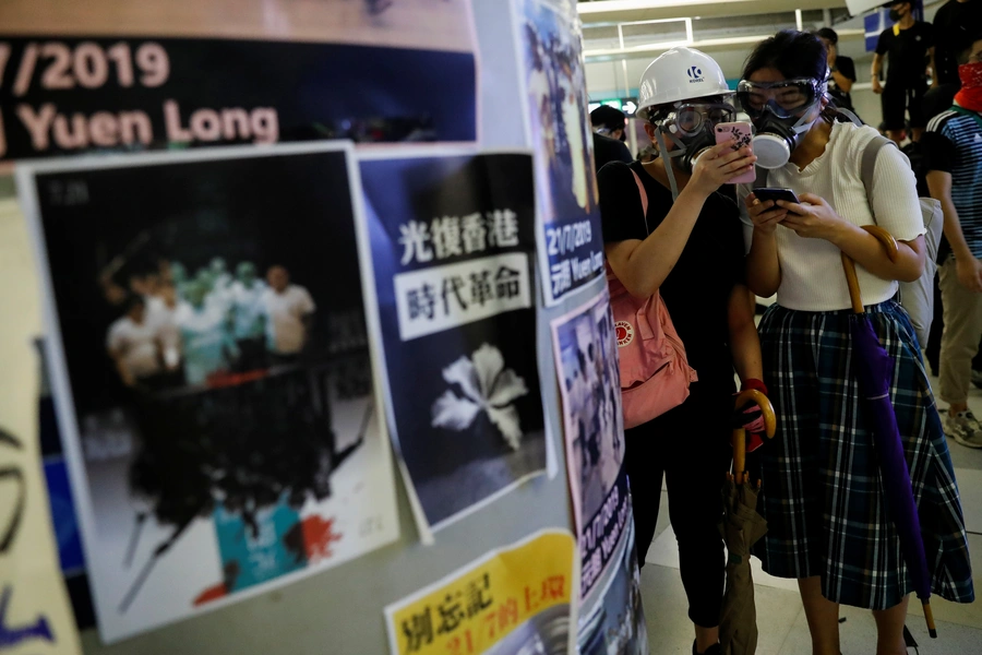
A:
{"type": "MultiPolygon", "coordinates": [[[[778,430],[749,462],[763,483],[757,508],[768,528],[753,552],[771,575],[821,576],[829,600],[886,609],[913,584],[851,372],[850,313],[774,305],[761,322],[764,378],[778,430]]],[[[891,300],[867,307],[866,314],[895,362],[890,400],[932,593],[970,603],[974,591],[958,486],[913,327],[891,300]]]]}

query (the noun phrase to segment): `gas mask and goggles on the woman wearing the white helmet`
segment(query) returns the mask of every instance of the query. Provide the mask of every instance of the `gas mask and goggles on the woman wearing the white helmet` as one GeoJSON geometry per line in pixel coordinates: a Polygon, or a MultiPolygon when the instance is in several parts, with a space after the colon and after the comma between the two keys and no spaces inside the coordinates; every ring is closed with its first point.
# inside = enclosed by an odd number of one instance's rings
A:
{"type": "Polygon", "coordinates": [[[716,145],[712,129],[718,123],[732,121],[735,116],[736,108],[727,102],[682,100],[652,118],[655,141],[671,184],[672,198],[678,198],[679,188],[671,160],[678,159],[679,170],[691,174],[699,155],[716,145]],[[675,147],[669,150],[668,142],[675,147]]]}

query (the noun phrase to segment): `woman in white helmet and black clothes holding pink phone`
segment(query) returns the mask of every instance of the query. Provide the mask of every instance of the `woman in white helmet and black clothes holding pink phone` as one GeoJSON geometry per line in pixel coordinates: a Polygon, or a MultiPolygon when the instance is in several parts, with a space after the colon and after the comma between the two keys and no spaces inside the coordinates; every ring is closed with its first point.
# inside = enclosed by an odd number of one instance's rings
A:
{"type": "Polygon", "coordinates": [[[732,142],[716,145],[714,126],[733,120],[735,109],[719,66],[698,50],[673,48],[652,61],[639,95],[638,117],[657,157],[600,170],[607,258],[632,295],[660,291],[699,379],[685,403],[625,430],[635,540],[643,563],[664,477],[695,624],[693,653],[718,653],[723,547],[716,524],[734,366],[745,386],[763,386],[739,210],[733,188],[722,184],[752,170],[755,157],[732,142]],[[647,214],[632,170],[645,187],[647,214]]]}

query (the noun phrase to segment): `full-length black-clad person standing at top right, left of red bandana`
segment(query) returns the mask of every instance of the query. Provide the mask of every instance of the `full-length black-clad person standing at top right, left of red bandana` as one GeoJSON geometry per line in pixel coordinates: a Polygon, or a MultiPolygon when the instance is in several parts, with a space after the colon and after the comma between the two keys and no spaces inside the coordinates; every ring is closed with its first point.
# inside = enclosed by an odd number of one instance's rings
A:
{"type": "Polygon", "coordinates": [[[903,141],[905,110],[910,114],[911,141],[920,141],[927,118],[924,116],[925,71],[934,70],[934,26],[915,21],[909,1],[887,2],[893,27],[884,29],[873,55],[873,93],[883,94],[883,120],[887,135],[903,141]],[[886,86],[879,83],[883,58],[889,59],[886,86]]]}

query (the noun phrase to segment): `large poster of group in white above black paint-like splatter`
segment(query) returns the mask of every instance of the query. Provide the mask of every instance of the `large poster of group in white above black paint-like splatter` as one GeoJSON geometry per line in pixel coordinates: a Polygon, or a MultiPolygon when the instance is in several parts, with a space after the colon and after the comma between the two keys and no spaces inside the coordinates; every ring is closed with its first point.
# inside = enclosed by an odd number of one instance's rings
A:
{"type": "Polygon", "coordinates": [[[397,538],[349,146],[17,176],[105,640],[397,538]]]}

